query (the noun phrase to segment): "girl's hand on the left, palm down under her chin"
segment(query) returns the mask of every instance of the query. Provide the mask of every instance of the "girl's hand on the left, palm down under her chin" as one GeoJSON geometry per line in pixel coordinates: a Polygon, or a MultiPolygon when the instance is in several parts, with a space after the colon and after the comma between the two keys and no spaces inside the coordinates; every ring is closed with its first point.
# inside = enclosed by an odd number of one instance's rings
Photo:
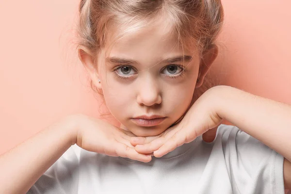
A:
{"type": "Polygon", "coordinates": [[[78,126],[76,139],[72,144],[108,156],[120,156],[140,162],[151,161],[150,154],[138,153],[130,144],[130,138],[135,136],[133,133],[83,114],[74,115],[73,119],[77,119],[78,126]]]}

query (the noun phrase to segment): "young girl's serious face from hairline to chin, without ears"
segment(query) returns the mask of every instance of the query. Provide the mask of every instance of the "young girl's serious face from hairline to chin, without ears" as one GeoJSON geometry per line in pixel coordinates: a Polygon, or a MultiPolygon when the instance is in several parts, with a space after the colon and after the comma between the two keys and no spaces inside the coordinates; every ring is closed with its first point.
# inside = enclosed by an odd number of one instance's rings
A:
{"type": "Polygon", "coordinates": [[[127,34],[107,56],[101,50],[98,57],[101,83],[94,82],[113,116],[135,135],[159,135],[189,108],[198,51],[183,50],[177,35],[162,23],[127,34]],[[154,117],[161,118],[145,120],[154,117]]]}

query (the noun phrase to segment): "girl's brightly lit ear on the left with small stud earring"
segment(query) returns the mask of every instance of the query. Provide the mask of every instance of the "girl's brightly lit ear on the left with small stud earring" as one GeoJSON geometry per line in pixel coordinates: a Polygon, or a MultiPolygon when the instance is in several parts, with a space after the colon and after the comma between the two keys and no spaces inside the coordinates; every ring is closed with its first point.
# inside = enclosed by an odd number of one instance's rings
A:
{"type": "Polygon", "coordinates": [[[101,89],[101,84],[98,82],[99,74],[97,72],[97,65],[94,64],[94,59],[92,54],[82,47],[78,47],[78,56],[82,64],[84,65],[86,71],[88,72],[94,85],[101,89]]]}

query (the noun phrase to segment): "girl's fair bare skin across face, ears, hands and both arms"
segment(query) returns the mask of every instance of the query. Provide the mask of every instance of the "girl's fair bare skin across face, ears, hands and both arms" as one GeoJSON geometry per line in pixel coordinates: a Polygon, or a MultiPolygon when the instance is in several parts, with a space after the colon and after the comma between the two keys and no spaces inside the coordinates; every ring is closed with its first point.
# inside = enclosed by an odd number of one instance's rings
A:
{"type": "MultiPolygon", "coordinates": [[[[215,128],[222,119],[283,155],[286,158],[285,188],[291,188],[291,107],[235,88],[217,86],[204,93],[190,108],[194,88],[202,84],[217,48],[205,53],[201,61],[197,52],[184,50],[183,53],[166,29],[147,30],[125,37],[110,52],[115,59],[130,58],[137,62],[130,64],[136,73],[129,79],[114,76],[112,70],[116,64],[104,65],[103,51],[98,63],[94,64],[90,55],[79,50],[81,62],[102,90],[109,110],[123,124],[123,129],[85,115],[61,119],[0,156],[0,193],[25,194],[71,145],[77,144],[88,151],[109,156],[149,162],[150,155],[161,157],[215,128]],[[161,57],[184,55],[192,57],[184,64],[186,76],[166,77],[165,74],[173,72],[178,76],[179,69],[165,68],[171,63],[159,63],[161,57]],[[196,83],[198,77],[200,81],[196,83]],[[188,109],[183,119],[169,128],[188,109]],[[130,119],[143,114],[159,114],[166,118],[154,127],[141,127],[130,119]]],[[[175,65],[182,63],[176,61],[175,65]]],[[[116,72],[128,73],[128,68],[124,70],[116,72]]]]}

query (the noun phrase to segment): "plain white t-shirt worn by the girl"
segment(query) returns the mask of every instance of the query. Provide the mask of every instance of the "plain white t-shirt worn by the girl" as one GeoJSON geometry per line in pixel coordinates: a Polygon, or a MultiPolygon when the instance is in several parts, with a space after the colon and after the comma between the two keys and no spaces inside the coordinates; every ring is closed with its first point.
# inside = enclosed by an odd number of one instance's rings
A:
{"type": "Polygon", "coordinates": [[[284,194],[284,158],[237,127],[221,125],[144,163],[71,146],[28,194],[284,194]]]}

